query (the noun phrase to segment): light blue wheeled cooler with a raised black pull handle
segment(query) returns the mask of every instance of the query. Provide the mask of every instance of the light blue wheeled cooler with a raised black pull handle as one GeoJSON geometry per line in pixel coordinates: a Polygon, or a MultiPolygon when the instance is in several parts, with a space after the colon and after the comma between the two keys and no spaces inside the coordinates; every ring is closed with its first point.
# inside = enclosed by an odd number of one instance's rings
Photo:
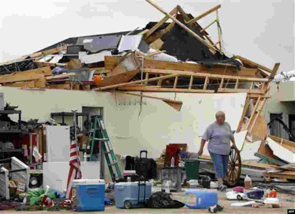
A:
{"type": "MultiPolygon", "coordinates": [[[[152,183],[146,182],[146,186],[140,182],[140,202],[146,202],[152,195],[152,183]],[[144,199],[145,192],[145,199],[144,199]]],[[[115,184],[115,205],[117,208],[139,207],[138,182],[121,182],[115,184]]]]}

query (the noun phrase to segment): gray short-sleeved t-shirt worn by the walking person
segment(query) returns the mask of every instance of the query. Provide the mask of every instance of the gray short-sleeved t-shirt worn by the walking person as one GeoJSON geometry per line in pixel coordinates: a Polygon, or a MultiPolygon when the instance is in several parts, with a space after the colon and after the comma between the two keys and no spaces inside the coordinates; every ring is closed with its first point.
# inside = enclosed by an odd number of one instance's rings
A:
{"type": "Polygon", "coordinates": [[[230,124],[224,122],[218,125],[217,122],[211,123],[202,139],[208,141],[208,151],[218,155],[229,155],[230,139],[233,137],[230,124]]]}

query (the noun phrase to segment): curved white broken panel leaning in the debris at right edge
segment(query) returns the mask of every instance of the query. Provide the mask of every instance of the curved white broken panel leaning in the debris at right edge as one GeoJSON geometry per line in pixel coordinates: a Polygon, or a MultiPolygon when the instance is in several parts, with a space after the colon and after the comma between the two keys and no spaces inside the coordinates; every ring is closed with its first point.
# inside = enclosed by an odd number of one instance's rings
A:
{"type": "Polygon", "coordinates": [[[282,147],[277,142],[273,141],[271,138],[267,138],[267,144],[273,151],[273,154],[276,155],[281,160],[284,160],[289,163],[295,162],[295,154],[290,150],[282,147]]]}

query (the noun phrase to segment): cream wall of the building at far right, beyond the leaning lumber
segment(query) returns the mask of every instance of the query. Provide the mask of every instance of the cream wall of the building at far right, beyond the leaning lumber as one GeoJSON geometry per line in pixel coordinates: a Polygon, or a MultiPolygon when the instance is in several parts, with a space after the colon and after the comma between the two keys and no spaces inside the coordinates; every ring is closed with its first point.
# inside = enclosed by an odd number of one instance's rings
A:
{"type": "MultiPolygon", "coordinates": [[[[269,86],[271,89],[267,96],[270,96],[271,98],[269,98],[265,103],[262,112],[264,119],[267,123],[269,123],[271,113],[283,113],[282,120],[289,127],[289,114],[295,114],[294,102],[281,102],[281,100],[289,99],[290,96],[294,96],[294,82],[282,82],[278,85],[275,82],[270,82],[269,86]]],[[[268,133],[270,133],[269,128],[268,133]]],[[[288,134],[285,132],[285,130],[282,131],[281,137],[289,140],[288,134]]]]}

